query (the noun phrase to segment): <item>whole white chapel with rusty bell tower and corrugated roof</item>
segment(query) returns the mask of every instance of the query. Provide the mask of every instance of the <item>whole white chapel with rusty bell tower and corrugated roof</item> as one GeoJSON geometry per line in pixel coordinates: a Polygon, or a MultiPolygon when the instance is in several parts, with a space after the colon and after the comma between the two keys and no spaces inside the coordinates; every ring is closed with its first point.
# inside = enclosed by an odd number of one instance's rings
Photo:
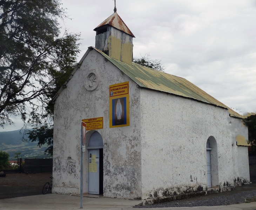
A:
{"type": "Polygon", "coordinates": [[[187,79],[133,63],[116,13],[53,98],[53,193],[170,201],[250,183],[240,114],[187,79]]]}

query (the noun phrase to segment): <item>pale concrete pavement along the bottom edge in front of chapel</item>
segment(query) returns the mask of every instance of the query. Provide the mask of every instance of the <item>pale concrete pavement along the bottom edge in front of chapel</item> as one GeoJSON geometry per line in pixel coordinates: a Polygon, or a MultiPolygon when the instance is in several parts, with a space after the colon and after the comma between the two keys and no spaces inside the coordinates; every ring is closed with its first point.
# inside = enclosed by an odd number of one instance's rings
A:
{"type": "MultiPolygon", "coordinates": [[[[125,210],[133,208],[141,201],[122,200],[115,198],[88,198],[83,197],[83,209],[113,209],[125,210]]],[[[56,210],[56,209],[80,209],[80,197],[70,195],[33,195],[0,200],[0,209],[36,209],[36,210],[56,210]]],[[[256,202],[241,203],[227,206],[214,207],[170,207],[170,208],[150,208],[148,210],[255,210],[256,202]]]]}

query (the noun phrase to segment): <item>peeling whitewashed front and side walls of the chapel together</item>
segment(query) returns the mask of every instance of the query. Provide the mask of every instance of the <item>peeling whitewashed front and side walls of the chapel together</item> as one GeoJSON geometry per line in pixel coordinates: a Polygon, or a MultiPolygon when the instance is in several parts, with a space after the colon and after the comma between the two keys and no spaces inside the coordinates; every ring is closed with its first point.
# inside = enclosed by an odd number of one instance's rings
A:
{"type": "MultiPolygon", "coordinates": [[[[136,87],[111,62],[92,50],[56,99],[54,110],[53,193],[80,193],[80,122],[103,117],[97,130],[104,143],[106,197],[147,199],[207,190],[206,142],[217,142],[218,186],[249,181],[247,147],[235,145],[247,127],[220,107],[136,87]],[[85,75],[96,69],[101,82],[85,89],[85,75]],[[109,128],[109,85],[129,81],[130,126],[109,128]],[[231,122],[231,123],[230,123],[231,122]],[[232,146],[233,144],[233,146],[232,146]],[[239,177],[239,181],[238,181],[239,177]]],[[[86,146],[92,131],[87,133],[86,146]]],[[[84,154],[88,192],[88,151],[84,154]]]]}

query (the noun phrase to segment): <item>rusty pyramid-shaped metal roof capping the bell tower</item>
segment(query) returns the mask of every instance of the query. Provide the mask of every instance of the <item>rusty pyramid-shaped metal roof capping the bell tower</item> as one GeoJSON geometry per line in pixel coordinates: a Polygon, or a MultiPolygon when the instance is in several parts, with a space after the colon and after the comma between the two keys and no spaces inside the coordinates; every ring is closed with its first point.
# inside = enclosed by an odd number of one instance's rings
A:
{"type": "Polygon", "coordinates": [[[126,24],[123,22],[123,20],[120,18],[120,16],[115,12],[112,15],[110,15],[105,21],[103,21],[99,26],[97,26],[94,30],[96,31],[97,28],[105,25],[113,26],[114,28],[117,28],[132,37],[135,37],[130,31],[130,29],[126,26],[126,24]]]}

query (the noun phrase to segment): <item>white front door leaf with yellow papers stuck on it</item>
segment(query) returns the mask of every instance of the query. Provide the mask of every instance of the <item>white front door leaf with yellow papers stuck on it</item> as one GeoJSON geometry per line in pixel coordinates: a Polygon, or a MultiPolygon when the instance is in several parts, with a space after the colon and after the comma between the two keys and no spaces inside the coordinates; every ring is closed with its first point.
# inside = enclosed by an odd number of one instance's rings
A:
{"type": "Polygon", "coordinates": [[[100,149],[89,150],[88,193],[100,194],[100,149]]]}

